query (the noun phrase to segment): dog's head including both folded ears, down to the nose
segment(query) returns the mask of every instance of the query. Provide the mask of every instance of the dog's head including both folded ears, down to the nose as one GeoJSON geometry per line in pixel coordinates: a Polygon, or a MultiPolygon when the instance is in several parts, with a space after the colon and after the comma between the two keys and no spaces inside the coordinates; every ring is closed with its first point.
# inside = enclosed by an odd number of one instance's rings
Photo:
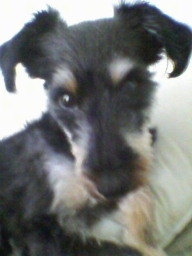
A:
{"type": "Polygon", "coordinates": [[[74,26],[48,8],[3,44],[0,62],[8,91],[15,90],[17,63],[45,80],[49,112],[70,142],[76,171],[110,198],[142,184],[148,169],[149,66],[166,53],[170,77],[182,74],[191,41],[187,26],[144,2],[74,26]]]}

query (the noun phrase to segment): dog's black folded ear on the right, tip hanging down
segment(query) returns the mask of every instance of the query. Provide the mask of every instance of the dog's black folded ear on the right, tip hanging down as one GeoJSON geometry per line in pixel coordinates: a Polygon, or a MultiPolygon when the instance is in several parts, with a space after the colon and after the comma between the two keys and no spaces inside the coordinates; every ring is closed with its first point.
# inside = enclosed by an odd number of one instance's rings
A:
{"type": "Polygon", "coordinates": [[[146,64],[155,63],[165,51],[173,62],[173,71],[169,77],[176,77],[184,72],[192,49],[192,32],[187,25],[171,19],[145,2],[122,4],[115,9],[115,16],[140,33],[143,51],[139,54],[146,64]]]}

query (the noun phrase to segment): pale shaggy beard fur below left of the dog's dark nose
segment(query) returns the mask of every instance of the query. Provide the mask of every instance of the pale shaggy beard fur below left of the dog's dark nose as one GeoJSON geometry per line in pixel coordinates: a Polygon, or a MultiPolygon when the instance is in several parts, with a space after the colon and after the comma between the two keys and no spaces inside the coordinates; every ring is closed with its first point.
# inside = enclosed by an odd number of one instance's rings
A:
{"type": "Polygon", "coordinates": [[[86,236],[88,227],[101,216],[115,209],[115,201],[109,201],[84,175],[69,175],[52,183],[54,198],[51,214],[68,233],[86,236]]]}

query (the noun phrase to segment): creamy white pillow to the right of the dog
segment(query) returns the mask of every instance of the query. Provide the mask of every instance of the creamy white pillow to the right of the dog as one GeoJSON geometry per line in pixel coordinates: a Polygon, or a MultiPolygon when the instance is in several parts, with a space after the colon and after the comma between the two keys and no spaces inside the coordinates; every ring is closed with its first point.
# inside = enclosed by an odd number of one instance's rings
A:
{"type": "MultiPolygon", "coordinates": [[[[192,219],[192,65],[177,79],[161,79],[154,103],[155,163],[149,174],[155,234],[166,247],[192,219]]],[[[192,244],[192,237],[191,237],[192,244]]]]}

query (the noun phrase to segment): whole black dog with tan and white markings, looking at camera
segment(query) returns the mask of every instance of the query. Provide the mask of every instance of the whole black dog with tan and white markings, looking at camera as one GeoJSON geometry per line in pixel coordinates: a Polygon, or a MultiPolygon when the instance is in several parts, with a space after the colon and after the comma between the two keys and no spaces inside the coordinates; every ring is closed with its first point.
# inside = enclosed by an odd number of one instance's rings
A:
{"type": "Polygon", "coordinates": [[[67,26],[48,8],[5,42],[0,64],[44,79],[48,110],[0,144],[1,255],[162,255],[153,241],[148,71],[187,68],[190,29],[145,2],[67,26]],[[132,248],[132,249],[131,249],[132,248]]]}

